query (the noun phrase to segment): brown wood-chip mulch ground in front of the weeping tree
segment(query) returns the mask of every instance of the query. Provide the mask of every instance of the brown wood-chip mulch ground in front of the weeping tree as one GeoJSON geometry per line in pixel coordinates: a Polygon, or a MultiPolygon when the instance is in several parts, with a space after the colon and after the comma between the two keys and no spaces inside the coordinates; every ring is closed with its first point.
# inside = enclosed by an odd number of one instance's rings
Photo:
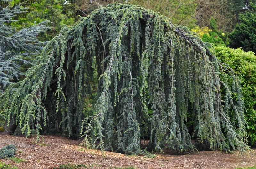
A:
{"type": "Polygon", "coordinates": [[[249,154],[228,154],[221,151],[200,151],[187,155],[157,154],[156,158],[127,156],[120,153],[83,149],[79,140],[59,136],[43,136],[44,141],[36,144],[36,138],[0,135],[0,148],[8,144],[17,146],[16,157],[27,162],[15,163],[0,159],[0,162],[18,168],[51,168],[62,164],[84,164],[90,168],[237,168],[256,165],[256,150],[249,154]]]}

